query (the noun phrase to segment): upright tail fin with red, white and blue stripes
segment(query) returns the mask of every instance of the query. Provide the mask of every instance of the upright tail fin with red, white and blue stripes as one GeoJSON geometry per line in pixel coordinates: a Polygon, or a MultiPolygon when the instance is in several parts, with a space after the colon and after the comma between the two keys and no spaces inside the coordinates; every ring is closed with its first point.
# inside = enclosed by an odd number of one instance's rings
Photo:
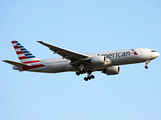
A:
{"type": "Polygon", "coordinates": [[[24,48],[18,41],[11,41],[21,63],[30,64],[40,62],[32,53],[24,48]]]}

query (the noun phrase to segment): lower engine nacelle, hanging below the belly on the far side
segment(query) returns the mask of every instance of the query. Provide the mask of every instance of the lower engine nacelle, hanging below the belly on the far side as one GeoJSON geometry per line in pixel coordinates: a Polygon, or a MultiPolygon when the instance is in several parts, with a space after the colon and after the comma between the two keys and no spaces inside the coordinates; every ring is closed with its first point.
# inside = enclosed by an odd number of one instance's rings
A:
{"type": "Polygon", "coordinates": [[[103,70],[103,73],[105,73],[107,75],[117,75],[120,73],[120,67],[119,66],[109,67],[109,68],[103,70]]]}

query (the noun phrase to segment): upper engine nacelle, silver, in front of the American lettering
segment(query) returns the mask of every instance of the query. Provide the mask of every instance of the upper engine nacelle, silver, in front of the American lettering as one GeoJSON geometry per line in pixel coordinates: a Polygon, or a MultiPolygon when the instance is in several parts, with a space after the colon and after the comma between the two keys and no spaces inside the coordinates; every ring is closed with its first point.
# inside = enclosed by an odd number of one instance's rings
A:
{"type": "Polygon", "coordinates": [[[106,64],[105,56],[94,56],[90,59],[91,64],[106,64]]]}

